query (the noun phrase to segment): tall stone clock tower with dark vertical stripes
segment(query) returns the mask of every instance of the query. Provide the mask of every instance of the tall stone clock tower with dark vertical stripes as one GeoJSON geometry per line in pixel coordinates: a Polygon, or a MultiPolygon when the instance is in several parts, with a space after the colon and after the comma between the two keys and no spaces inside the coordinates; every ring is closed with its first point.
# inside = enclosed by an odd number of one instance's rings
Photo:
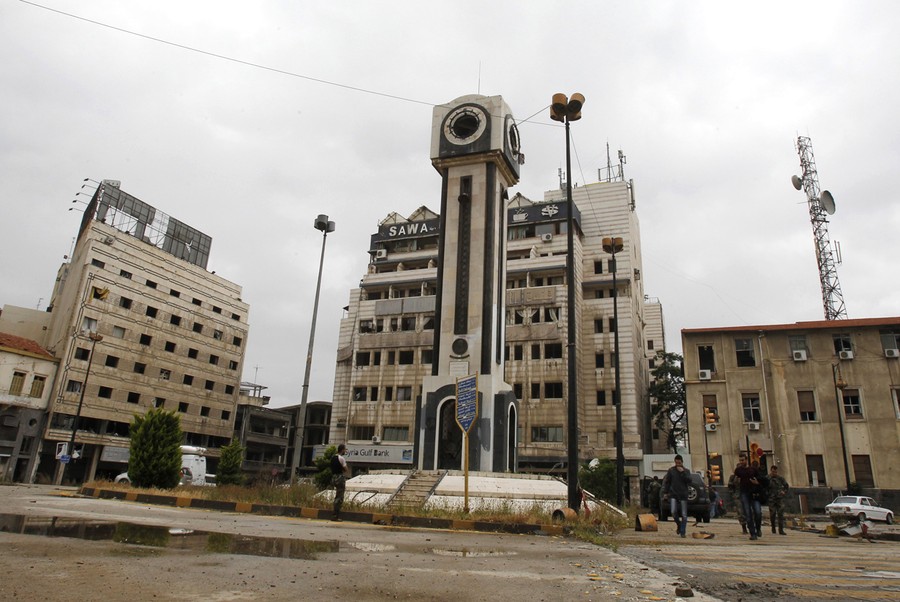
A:
{"type": "Polygon", "coordinates": [[[434,108],[431,163],[441,175],[432,373],[416,408],[419,467],[462,469],[456,380],[478,374],[469,468],[516,468],[518,402],[504,382],[506,201],[524,162],[500,96],[461,96],[434,108]]]}

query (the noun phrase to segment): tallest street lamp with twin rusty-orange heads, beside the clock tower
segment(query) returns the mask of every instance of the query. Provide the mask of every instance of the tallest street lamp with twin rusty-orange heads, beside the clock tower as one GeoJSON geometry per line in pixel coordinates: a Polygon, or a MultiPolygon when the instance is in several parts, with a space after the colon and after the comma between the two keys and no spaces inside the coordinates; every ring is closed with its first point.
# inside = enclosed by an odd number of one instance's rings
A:
{"type": "Polygon", "coordinates": [[[581,119],[581,107],[584,105],[584,96],[573,94],[572,98],[566,98],[565,94],[554,94],[550,104],[550,119],[566,124],[566,314],[568,315],[568,340],[569,351],[569,399],[568,399],[568,496],[569,508],[576,512],[581,507],[581,496],[578,493],[578,380],[576,378],[575,362],[575,220],[573,217],[574,204],[572,203],[572,158],[569,142],[569,123],[581,119]]]}

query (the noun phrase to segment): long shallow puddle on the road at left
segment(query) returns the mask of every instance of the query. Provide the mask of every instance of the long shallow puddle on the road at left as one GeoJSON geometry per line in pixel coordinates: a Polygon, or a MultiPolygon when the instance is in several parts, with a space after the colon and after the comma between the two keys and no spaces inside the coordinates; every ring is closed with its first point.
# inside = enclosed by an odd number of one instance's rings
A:
{"type": "Polygon", "coordinates": [[[233,533],[170,529],[153,525],[58,516],[0,514],[0,531],[43,537],[115,541],[122,544],[193,550],[210,554],[239,554],[301,560],[316,560],[318,554],[340,550],[340,544],[335,540],[253,537],[233,533]]]}

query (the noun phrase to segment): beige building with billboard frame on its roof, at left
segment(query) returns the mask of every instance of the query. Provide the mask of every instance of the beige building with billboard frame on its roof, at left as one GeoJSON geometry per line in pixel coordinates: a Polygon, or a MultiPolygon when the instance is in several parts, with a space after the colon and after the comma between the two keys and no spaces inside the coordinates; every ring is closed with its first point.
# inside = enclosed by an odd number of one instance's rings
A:
{"type": "Polygon", "coordinates": [[[234,434],[249,332],[241,287],[207,270],[212,239],[105,180],[88,204],[47,312],[4,308],[0,331],[41,333],[60,360],[39,478],[126,468],[135,414],[181,417],[213,457],[234,434]],[[78,456],[65,474],[58,444],[78,456]]]}

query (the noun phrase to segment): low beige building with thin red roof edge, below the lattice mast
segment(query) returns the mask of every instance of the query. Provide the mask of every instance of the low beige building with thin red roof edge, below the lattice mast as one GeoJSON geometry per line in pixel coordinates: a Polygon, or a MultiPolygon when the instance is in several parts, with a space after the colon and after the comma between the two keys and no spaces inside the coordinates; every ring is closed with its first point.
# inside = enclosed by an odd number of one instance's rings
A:
{"type": "Polygon", "coordinates": [[[848,483],[897,505],[900,317],[694,328],[681,336],[696,469],[718,465],[727,480],[750,450],[762,454],[764,468],[777,464],[812,509],[848,483]]]}

